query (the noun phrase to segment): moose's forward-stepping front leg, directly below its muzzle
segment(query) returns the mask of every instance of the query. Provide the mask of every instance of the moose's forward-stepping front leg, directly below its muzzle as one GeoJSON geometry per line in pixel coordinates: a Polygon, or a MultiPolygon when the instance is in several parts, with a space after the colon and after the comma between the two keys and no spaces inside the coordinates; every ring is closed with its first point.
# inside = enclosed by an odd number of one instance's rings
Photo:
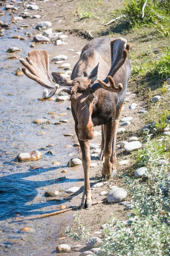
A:
{"type": "MultiPolygon", "coordinates": [[[[76,130],[77,138],[79,140],[77,125],[75,125],[75,130],[76,130]]],[[[84,169],[84,179],[85,179],[81,207],[90,209],[92,206],[92,195],[91,195],[90,177],[89,177],[89,170],[91,165],[90,142],[89,140],[88,141],[79,140],[79,144],[82,151],[82,166],[84,169]]]]}

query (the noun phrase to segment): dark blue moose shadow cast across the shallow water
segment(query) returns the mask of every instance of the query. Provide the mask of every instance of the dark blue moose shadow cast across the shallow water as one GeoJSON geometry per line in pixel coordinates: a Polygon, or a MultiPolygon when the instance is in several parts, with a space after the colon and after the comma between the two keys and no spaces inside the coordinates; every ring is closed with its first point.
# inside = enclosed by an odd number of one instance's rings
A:
{"type": "MultiPolygon", "coordinates": [[[[68,179],[66,177],[59,177],[51,180],[33,181],[25,180],[25,178],[39,175],[40,172],[45,173],[51,170],[59,169],[60,167],[61,166],[55,168],[39,168],[35,169],[34,171],[32,169],[28,169],[28,172],[14,173],[0,177],[0,220],[12,218],[16,216],[16,214],[20,213],[22,213],[22,215],[37,215],[53,212],[53,210],[42,211],[41,208],[57,204],[56,201],[43,201],[35,204],[32,202],[38,194],[36,189],[52,184],[83,181],[84,179],[68,179]],[[30,202],[32,203],[28,204],[30,202]]],[[[83,186],[78,192],[72,194],[72,196],[76,196],[82,191],[83,186]]],[[[61,200],[58,202],[58,204],[63,202],[65,201],[61,200]]]]}

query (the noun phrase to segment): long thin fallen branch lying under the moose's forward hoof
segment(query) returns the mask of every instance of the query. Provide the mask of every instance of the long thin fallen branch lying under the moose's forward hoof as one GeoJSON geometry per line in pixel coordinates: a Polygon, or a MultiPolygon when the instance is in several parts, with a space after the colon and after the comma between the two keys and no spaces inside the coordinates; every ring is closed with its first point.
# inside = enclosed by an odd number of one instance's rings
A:
{"type": "MultiPolygon", "coordinates": [[[[102,200],[102,201],[99,201],[99,202],[94,202],[92,203],[92,205],[96,205],[96,204],[102,204],[102,203],[105,203],[106,200],[102,200]]],[[[75,210],[75,209],[79,209],[81,208],[80,205],[78,206],[71,206],[67,209],[63,209],[63,210],[59,210],[57,212],[51,212],[51,213],[47,213],[47,214],[42,214],[42,215],[37,215],[37,216],[33,216],[33,217],[28,217],[28,218],[15,218],[14,221],[26,221],[26,220],[34,220],[34,219],[38,219],[38,218],[47,218],[47,217],[51,217],[51,216],[54,216],[54,215],[57,215],[57,214],[61,214],[61,213],[64,213],[64,212],[68,212],[68,211],[71,211],[71,210],[75,210]]]]}

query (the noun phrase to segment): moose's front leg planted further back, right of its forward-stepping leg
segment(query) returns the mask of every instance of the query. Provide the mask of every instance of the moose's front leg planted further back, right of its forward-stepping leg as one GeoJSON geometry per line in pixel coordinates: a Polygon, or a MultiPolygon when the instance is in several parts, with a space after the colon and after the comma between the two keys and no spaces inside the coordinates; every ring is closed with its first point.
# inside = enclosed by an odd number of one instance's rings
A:
{"type": "Polygon", "coordinates": [[[116,122],[113,120],[112,122],[105,125],[105,146],[103,150],[103,155],[105,157],[105,162],[103,163],[102,168],[102,176],[105,178],[107,175],[107,179],[112,177],[112,163],[110,162],[110,157],[112,155],[112,141],[113,136],[115,134],[115,125],[116,122]]]}

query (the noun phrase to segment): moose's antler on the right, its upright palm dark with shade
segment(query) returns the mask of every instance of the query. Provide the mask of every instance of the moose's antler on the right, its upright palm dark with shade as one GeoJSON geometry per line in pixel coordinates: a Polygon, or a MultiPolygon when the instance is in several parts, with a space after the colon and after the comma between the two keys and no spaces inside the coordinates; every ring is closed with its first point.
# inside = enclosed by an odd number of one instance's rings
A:
{"type": "Polygon", "coordinates": [[[129,50],[130,44],[127,44],[126,39],[118,38],[111,41],[111,69],[105,80],[97,79],[99,82],[91,85],[93,92],[99,88],[104,88],[115,93],[119,93],[122,90],[123,86],[121,83],[118,84],[118,87],[115,86],[113,76],[125,63],[129,50]],[[110,82],[110,86],[107,84],[108,82],[110,82]]]}

